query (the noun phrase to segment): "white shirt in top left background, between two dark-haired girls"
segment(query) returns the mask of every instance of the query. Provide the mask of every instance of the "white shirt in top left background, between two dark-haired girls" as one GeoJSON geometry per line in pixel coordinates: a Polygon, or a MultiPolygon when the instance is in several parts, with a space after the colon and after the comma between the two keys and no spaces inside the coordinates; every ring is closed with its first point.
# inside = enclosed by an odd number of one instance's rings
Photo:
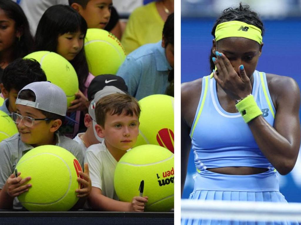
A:
{"type": "MultiPolygon", "coordinates": [[[[17,0],[14,0],[17,2],[17,0]]],[[[68,5],[68,0],[19,0],[19,5],[23,9],[33,36],[36,35],[36,29],[43,13],[53,5],[68,5]]]]}

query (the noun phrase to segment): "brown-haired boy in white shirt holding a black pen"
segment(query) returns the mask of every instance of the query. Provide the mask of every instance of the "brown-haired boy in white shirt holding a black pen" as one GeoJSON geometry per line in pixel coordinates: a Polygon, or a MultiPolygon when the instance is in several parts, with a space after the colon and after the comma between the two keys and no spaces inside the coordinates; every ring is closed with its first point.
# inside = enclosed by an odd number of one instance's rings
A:
{"type": "Polygon", "coordinates": [[[85,155],[92,181],[90,205],[104,211],[144,211],[146,196],[135,196],[132,202],[118,201],[113,182],[117,162],[137,141],[140,116],[137,100],[126,94],[107,95],[97,102],[95,116],[95,130],[104,141],[90,146],[85,155]]]}

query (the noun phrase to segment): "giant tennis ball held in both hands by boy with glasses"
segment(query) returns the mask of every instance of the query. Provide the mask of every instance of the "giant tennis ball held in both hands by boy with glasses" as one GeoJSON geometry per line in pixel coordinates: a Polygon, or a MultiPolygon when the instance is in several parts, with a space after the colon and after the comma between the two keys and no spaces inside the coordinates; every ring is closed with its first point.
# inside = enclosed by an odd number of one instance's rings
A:
{"type": "Polygon", "coordinates": [[[31,177],[32,187],[18,196],[29,211],[67,211],[77,200],[81,166],[72,153],[59,146],[31,149],[16,166],[21,177],[31,177]]]}

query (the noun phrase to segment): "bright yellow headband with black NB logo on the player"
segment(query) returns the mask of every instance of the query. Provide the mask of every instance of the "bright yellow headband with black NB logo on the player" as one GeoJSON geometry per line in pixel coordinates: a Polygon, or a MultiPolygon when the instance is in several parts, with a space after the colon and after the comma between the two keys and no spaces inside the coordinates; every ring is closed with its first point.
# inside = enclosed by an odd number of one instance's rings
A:
{"type": "Polygon", "coordinates": [[[262,43],[261,30],[258,27],[237,20],[223,22],[216,26],[216,41],[230,37],[248,38],[259,44],[262,43]]]}

